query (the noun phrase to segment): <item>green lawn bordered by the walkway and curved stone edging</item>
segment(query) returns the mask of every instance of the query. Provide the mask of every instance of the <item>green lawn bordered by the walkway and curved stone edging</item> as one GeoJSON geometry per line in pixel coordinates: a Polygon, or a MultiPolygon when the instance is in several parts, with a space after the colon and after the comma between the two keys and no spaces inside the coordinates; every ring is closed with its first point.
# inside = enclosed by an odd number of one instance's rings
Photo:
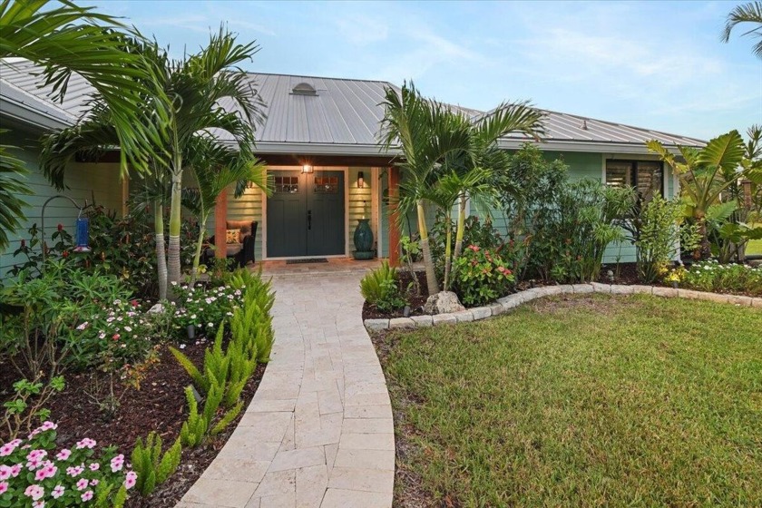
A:
{"type": "Polygon", "coordinates": [[[762,506],[762,310],[602,295],[379,339],[396,501],[762,506]]]}

